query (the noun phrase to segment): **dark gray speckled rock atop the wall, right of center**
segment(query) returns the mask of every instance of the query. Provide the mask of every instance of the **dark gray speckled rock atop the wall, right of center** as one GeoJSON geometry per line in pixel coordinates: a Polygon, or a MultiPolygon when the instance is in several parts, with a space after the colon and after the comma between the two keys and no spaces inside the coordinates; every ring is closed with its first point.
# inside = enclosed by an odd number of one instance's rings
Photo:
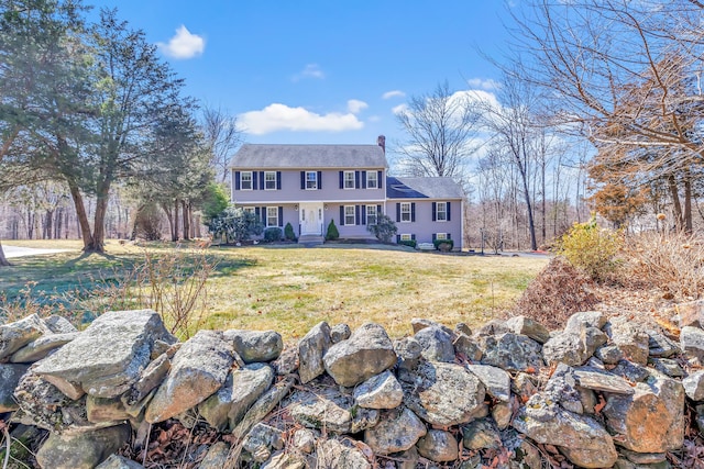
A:
{"type": "Polygon", "coordinates": [[[543,366],[540,344],[525,335],[506,333],[481,336],[479,344],[483,351],[483,365],[492,365],[506,371],[539,370],[543,366]]]}

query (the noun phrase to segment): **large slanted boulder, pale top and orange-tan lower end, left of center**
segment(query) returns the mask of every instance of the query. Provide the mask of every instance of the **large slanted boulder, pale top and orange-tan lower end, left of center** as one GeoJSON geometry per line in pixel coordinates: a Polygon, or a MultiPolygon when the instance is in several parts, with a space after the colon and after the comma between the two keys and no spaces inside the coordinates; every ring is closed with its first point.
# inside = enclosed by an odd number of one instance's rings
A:
{"type": "Polygon", "coordinates": [[[219,390],[234,362],[232,346],[215,331],[199,331],[174,355],[172,370],[150,402],[148,423],[195,407],[219,390]]]}

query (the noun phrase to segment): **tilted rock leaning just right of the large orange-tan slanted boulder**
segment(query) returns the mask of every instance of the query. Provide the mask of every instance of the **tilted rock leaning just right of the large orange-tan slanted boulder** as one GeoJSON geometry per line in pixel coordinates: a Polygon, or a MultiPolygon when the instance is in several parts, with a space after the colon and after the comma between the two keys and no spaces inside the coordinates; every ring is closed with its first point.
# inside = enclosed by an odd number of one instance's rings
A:
{"type": "Polygon", "coordinates": [[[213,428],[234,428],[273,382],[274,371],[267,365],[245,365],[232,370],[224,386],[198,405],[198,412],[213,428]]]}

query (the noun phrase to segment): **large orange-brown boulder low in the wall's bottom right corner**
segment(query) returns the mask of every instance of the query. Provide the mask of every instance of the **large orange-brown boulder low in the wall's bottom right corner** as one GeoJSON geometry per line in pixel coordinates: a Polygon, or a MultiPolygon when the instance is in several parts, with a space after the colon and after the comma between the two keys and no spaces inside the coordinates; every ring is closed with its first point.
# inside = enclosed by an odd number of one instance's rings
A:
{"type": "Polygon", "coordinates": [[[607,394],[603,414],[619,445],[637,453],[679,449],[684,440],[684,387],[664,376],[639,382],[634,393],[607,394]]]}

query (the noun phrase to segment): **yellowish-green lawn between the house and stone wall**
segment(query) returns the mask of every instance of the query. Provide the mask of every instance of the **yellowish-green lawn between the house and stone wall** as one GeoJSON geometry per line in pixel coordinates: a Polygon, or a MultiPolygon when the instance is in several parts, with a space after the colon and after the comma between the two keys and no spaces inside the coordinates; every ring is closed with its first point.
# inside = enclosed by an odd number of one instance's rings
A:
{"type": "MultiPolygon", "coordinates": [[[[28,283],[33,297],[80,290],[80,297],[90,300],[91,291],[120,283],[145,256],[144,247],[116,242],[108,244],[105,256],[82,255],[77,242],[4,244],[76,249],[11,259],[14,266],[0,270],[0,294],[8,303],[22,295],[28,283]]],[[[176,253],[165,244],[146,249],[163,256],[176,253]]],[[[373,321],[395,337],[411,332],[413,317],[476,326],[509,308],[547,263],[374,245],[211,247],[208,257],[217,266],[207,282],[202,326],[273,328],[286,338],[300,337],[323,320],[353,328],[373,321]]],[[[91,304],[98,303],[92,299],[91,304]]]]}

